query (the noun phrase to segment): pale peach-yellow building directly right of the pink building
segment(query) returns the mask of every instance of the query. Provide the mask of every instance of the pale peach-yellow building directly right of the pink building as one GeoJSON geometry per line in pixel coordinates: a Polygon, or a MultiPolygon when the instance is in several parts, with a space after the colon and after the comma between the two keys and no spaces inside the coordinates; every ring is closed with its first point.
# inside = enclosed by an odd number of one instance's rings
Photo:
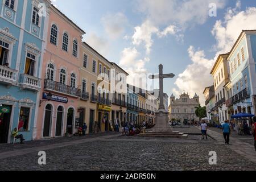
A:
{"type": "Polygon", "coordinates": [[[97,60],[98,57],[92,47],[82,43],[80,61],[80,87],[82,97],[79,101],[79,122],[86,123],[86,133],[93,133],[97,111],[97,60]]]}

